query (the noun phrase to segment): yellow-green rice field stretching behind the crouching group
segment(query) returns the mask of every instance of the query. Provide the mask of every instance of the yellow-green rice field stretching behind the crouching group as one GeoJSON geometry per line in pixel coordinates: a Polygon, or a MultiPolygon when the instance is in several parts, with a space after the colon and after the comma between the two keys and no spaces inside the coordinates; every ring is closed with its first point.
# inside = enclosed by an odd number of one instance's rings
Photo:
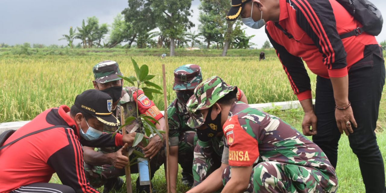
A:
{"type": "MultiPolygon", "coordinates": [[[[269,57],[133,57],[139,65],[147,64],[154,82],[162,85],[166,65],[168,101],[175,98],[173,70],[183,64],[198,64],[203,78],[220,76],[230,85],[239,86],[250,103],[297,100],[278,59],[269,57]]],[[[46,108],[72,105],[76,95],[93,88],[92,68],[104,60],[115,60],[125,76],[134,75],[129,56],[15,56],[0,60],[0,122],[30,120],[46,108]]],[[[312,74],[312,76],[314,76],[312,74]]],[[[315,80],[315,77],[311,77],[315,80]]],[[[127,83],[126,83],[127,84],[127,83]]],[[[129,85],[127,85],[129,86],[129,85]]],[[[164,109],[163,96],[154,102],[164,109]]]]}

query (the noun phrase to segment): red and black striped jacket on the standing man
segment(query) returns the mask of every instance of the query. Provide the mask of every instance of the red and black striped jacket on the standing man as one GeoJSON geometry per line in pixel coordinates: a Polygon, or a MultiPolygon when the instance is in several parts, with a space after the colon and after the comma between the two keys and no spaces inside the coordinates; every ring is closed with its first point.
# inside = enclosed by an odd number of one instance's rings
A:
{"type": "Polygon", "coordinates": [[[367,45],[378,44],[367,33],[340,39],[339,35],[362,25],[336,0],[279,0],[279,3],[279,22],[267,22],[266,34],[299,100],[312,98],[310,78],[302,59],[313,73],[339,78],[366,57],[367,45]]]}

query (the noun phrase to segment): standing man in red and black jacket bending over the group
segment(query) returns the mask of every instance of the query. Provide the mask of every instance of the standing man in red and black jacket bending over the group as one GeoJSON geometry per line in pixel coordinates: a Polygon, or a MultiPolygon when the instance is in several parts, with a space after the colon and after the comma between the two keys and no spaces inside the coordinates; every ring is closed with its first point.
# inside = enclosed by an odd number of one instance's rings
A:
{"type": "Polygon", "coordinates": [[[251,28],[266,24],[305,111],[303,134],[313,135],[335,168],[340,134],[348,135],[366,192],[385,192],[383,157],[374,132],[385,66],[375,37],[350,33],[362,24],[336,0],[232,0],[227,20],[240,15],[251,28]],[[315,109],[302,59],[317,74],[315,109]]]}

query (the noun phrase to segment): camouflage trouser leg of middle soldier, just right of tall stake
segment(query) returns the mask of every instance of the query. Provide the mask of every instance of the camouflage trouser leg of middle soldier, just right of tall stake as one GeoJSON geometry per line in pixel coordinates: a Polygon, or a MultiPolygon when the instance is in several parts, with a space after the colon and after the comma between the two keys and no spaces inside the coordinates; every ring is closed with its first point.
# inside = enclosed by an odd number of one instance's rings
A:
{"type": "Polygon", "coordinates": [[[186,131],[179,134],[178,163],[181,165],[183,177],[193,176],[193,143],[195,135],[195,131],[186,131]]]}

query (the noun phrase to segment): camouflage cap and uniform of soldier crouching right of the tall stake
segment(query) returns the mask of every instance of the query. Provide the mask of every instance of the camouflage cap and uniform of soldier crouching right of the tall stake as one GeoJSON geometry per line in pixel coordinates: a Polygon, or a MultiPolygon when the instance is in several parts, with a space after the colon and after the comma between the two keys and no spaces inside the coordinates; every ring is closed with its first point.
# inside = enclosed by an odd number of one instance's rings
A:
{"type": "MultiPolygon", "coordinates": [[[[201,82],[201,68],[198,65],[186,64],[174,70],[173,90],[175,91],[190,91],[193,94],[193,90],[201,82]]],[[[190,96],[187,94],[185,98],[188,99],[188,97],[190,96]]],[[[178,146],[178,163],[182,168],[183,180],[192,183],[192,162],[196,130],[186,125],[189,119],[186,101],[184,102],[183,98],[176,98],[168,107],[169,140],[170,146],[178,146]]]]}

